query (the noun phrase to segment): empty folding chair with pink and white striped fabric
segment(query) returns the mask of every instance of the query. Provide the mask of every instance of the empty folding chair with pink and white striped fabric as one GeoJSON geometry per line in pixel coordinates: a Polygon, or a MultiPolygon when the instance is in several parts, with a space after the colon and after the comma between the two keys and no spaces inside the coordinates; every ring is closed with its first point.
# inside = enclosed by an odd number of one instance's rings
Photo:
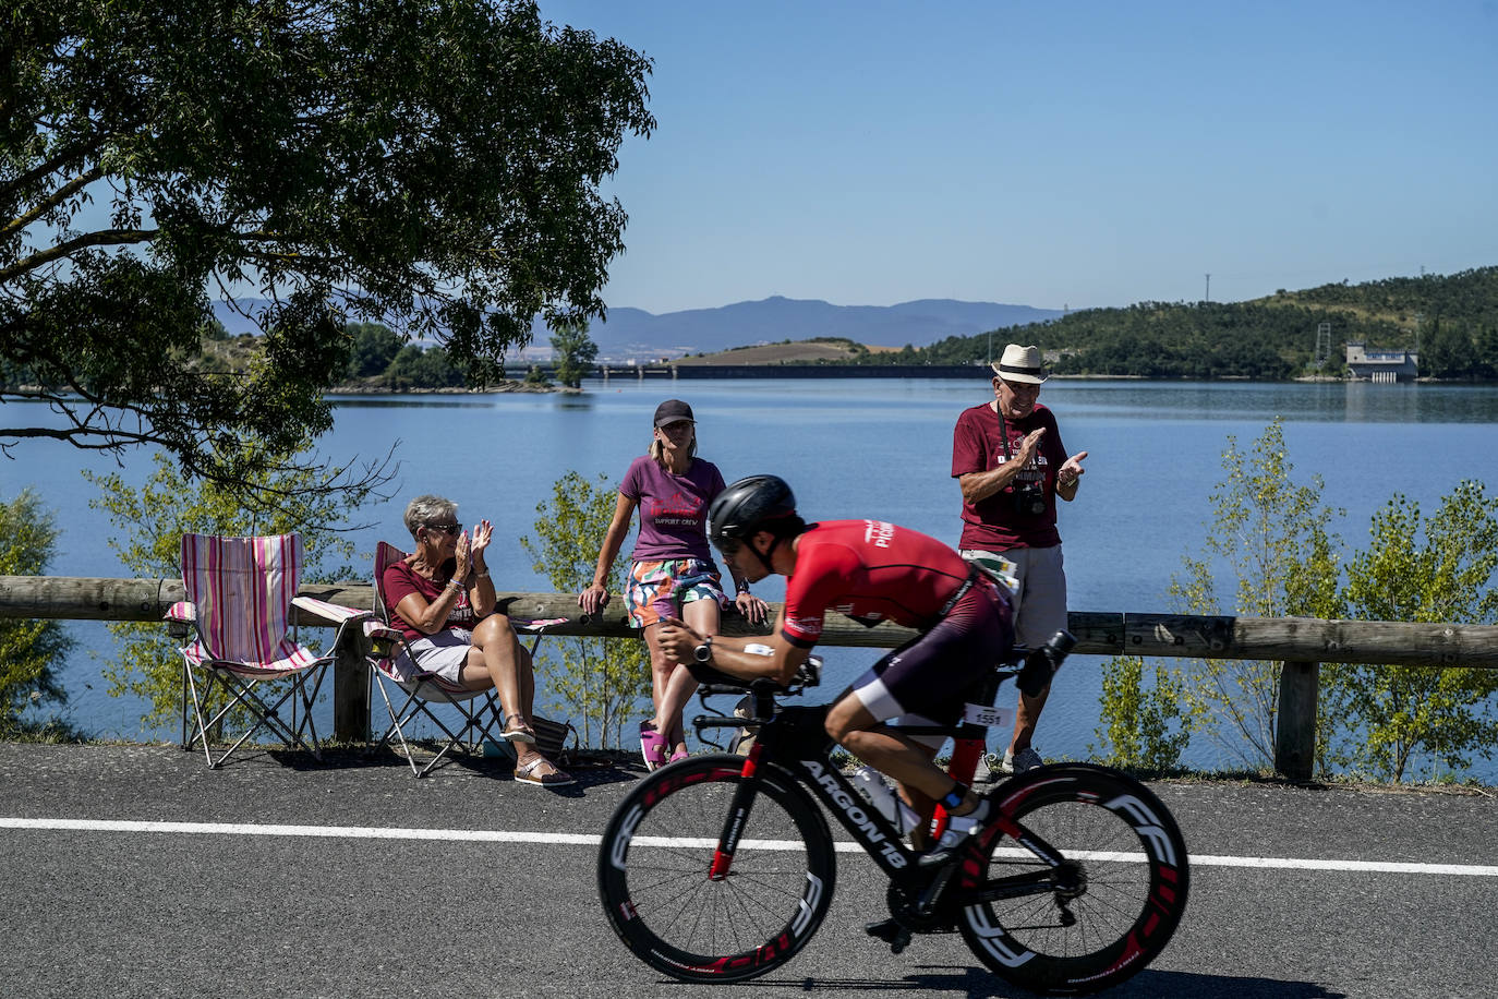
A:
{"type": "Polygon", "coordinates": [[[322,607],[297,596],[301,536],[183,535],[181,566],[187,599],[174,604],[166,620],[184,626],[189,640],[181,647],[183,749],[201,743],[208,767],[217,768],[265,729],[288,747],[321,759],[312,705],[333,662],[333,646],[318,655],[289,634],[292,605],[322,607]],[[271,683],[276,680],[289,683],[271,683]],[[214,743],[229,738],[216,732],[240,717],[241,708],[249,716],[246,729],[214,756],[214,743]],[[289,719],[282,717],[286,708],[289,719]]]}

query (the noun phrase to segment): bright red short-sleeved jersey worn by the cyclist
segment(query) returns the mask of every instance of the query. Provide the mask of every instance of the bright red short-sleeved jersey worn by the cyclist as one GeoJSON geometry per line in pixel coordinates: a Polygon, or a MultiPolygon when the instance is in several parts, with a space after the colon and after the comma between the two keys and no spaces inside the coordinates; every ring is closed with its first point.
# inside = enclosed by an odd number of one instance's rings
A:
{"type": "Polygon", "coordinates": [[[798,538],[780,634],[809,649],[828,610],[869,628],[893,620],[926,631],[968,572],[962,556],[917,530],[882,520],[821,521],[798,538]]]}

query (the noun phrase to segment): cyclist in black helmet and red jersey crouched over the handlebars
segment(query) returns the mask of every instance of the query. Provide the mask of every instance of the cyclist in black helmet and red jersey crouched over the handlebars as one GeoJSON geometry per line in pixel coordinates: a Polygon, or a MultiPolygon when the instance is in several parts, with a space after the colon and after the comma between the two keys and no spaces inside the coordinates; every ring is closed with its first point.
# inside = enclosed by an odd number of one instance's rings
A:
{"type": "MultiPolygon", "coordinates": [[[[864,672],[827,713],[827,734],[899,782],[923,818],[941,801],[981,828],[989,803],[932,762],[936,747],[881,725],[891,717],[950,725],[963,693],[1014,641],[1008,595],[945,544],[879,520],[807,524],[783,479],[755,475],[725,488],[707,514],[709,538],[737,578],[788,577],[768,638],[701,635],[670,619],[659,638],[679,662],[740,678],[788,684],[822,634],[828,610],[872,628],[881,620],[921,634],[864,672]],[[768,652],[765,652],[768,649],[768,652]]],[[[912,840],[924,848],[923,827],[912,840]]],[[[935,857],[933,857],[935,860],[935,857]]]]}

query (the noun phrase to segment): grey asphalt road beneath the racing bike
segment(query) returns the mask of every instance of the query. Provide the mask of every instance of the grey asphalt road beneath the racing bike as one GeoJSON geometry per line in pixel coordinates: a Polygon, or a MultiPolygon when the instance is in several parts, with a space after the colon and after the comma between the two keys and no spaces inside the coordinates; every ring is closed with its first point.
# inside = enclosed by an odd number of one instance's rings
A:
{"type": "MultiPolygon", "coordinates": [[[[487,759],[418,782],[389,756],[208,771],[169,746],[0,744],[0,996],[697,995],[635,962],[593,888],[590,837],[638,776],[551,792],[487,759]]],[[[1498,995],[1494,797],[1153,786],[1191,902],[1107,995],[1498,995]]],[[[957,936],[891,956],[861,929],[882,912],[872,863],[837,864],[818,936],[743,996],[1025,995],[957,936]]]]}

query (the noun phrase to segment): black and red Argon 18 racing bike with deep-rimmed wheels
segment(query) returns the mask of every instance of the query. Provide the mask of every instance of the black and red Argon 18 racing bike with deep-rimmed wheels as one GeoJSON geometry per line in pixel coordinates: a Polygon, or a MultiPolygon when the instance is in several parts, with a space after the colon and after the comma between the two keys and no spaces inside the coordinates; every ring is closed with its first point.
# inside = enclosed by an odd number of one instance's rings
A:
{"type": "MultiPolygon", "coordinates": [[[[1061,656],[1017,650],[995,668],[987,690],[1016,677],[1022,690],[1038,690],[1061,656]]],[[[890,917],[866,929],[896,954],[914,935],[957,932],[1010,983],[1079,995],[1144,968],[1180,923],[1186,845],[1165,806],[1132,777],[1092,764],[1008,777],[987,792],[996,818],[921,863],[833,762],[827,705],[777,702],[815,686],[815,669],[786,687],[698,664],[692,671],[704,681],[704,704],[745,692],[752,702],[749,717],[694,719],[698,734],[743,726],[752,747],[746,756],[692,756],[644,777],[610,819],[598,857],[610,924],[656,971],[694,983],[743,981],[806,945],[836,878],[818,801],[888,878],[890,917]]],[[[972,738],[971,726],[899,728],[972,738]]]]}

